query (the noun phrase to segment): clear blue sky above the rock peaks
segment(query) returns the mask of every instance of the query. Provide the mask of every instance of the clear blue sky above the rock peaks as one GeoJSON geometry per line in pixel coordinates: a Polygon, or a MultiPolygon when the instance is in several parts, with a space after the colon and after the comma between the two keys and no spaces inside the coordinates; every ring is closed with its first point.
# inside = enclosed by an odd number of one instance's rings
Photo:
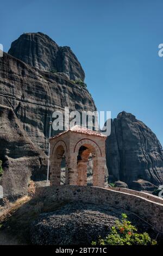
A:
{"type": "Polygon", "coordinates": [[[70,46],[99,111],[136,115],[163,145],[162,0],[1,1],[0,43],[43,32],[70,46]]]}

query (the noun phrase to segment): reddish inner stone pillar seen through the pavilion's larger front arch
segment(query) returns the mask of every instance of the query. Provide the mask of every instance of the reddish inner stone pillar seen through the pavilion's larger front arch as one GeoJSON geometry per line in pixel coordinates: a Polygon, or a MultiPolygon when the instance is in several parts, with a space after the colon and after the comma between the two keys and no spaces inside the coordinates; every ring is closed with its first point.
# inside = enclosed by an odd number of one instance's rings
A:
{"type": "Polygon", "coordinates": [[[77,165],[78,171],[78,179],[77,185],[78,186],[86,186],[87,185],[87,162],[79,161],[77,165]]]}

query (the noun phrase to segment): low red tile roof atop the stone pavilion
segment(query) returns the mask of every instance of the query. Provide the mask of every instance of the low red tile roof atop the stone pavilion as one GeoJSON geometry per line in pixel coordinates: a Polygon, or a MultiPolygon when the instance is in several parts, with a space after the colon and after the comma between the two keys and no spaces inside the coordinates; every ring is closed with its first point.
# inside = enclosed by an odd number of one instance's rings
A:
{"type": "Polygon", "coordinates": [[[96,132],[96,131],[92,131],[90,129],[87,129],[83,126],[79,126],[79,125],[74,125],[73,127],[71,127],[70,129],[64,131],[64,132],[61,132],[59,133],[58,135],[55,135],[51,138],[49,138],[50,140],[51,139],[54,139],[54,138],[58,138],[60,137],[61,135],[64,135],[65,133],[67,132],[75,132],[75,133],[80,133],[80,134],[85,134],[85,135],[95,135],[95,136],[99,136],[99,137],[107,137],[105,135],[103,135],[101,132],[96,132]]]}

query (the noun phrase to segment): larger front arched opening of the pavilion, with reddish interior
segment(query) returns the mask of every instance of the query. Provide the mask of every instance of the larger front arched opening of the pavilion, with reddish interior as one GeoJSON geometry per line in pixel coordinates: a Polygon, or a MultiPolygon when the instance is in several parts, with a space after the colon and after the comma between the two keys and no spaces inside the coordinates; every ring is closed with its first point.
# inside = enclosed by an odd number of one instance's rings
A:
{"type": "Polygon", "coordinates": [[[79,186],[93,185],[93,159],[96,156],[95,149],[84,144],[79,148],[77,157],[77,184],[79,186]]]}

